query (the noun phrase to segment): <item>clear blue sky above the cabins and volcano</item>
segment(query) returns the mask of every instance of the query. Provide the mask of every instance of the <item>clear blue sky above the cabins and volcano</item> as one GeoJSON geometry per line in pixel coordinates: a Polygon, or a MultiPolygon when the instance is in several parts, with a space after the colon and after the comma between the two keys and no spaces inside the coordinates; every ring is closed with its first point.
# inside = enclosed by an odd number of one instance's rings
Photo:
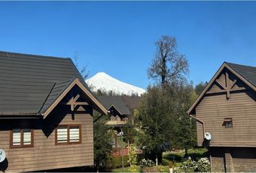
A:
{"type": "Polygon", "coordinates": [[[1,1],[0,50],[80,58],[146,88],[161,35],[175,36],[188,79],[209,81],[223,61],[256,66],[255,1],[1,1]]]}

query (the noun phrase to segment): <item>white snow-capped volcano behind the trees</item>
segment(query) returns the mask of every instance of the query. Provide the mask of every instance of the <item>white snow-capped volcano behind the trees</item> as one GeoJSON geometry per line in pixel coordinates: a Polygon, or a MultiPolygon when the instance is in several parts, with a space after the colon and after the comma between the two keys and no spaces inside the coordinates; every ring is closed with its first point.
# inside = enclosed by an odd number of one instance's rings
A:
{"type": "Polygon", "coordinates": [[[108,74],[105,74],[104,72],[95,74],[95,76],[91,77],[85,82],[89,86],[93,86],[92,89],[94,92],[100,89],[104,92],[112,91],[115,94],[138,94],[139,96],[146,92],[145,89],[114,79],[113,77],[109,76],[108,74]]]}

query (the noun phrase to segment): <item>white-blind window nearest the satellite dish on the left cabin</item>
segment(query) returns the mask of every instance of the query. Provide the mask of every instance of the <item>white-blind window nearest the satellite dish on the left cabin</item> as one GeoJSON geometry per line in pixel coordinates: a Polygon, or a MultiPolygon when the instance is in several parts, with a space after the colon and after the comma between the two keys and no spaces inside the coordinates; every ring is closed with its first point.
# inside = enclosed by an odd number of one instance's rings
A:
{"type": "Polygon", "coordinates": [[[13,129],[10,141],[11,148],[33,146],[33,130],[13,129]]]}

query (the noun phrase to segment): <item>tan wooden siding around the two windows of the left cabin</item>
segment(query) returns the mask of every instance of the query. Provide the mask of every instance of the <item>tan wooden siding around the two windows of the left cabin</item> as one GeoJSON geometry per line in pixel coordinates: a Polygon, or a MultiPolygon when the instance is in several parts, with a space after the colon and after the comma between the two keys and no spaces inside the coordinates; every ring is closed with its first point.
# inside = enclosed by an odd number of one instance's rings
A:
{"type": "MultiPolygon", "coordinates": [[[[55,120],[59,120],[60,117],[56,112],[54,114],[52,116],[55,117],[51,117],[51,122],[55,123],[55,120]]],[[[7,154],[7,172],[27,172],[92,165],[93,117],[90,113],[67,114],[61,119],[59,125],[82,125],[82,143],[56,146],[55,128],[47,120],[48,125],[44,130],[40,129],[40,127],[35,127],[39,129],[34,130],[33,148],[9,148],[9,130],[0,130],[0,146],[7,154]]],[[[54,126],[56,125],[58,123],[54,124],[54,126]]]]}

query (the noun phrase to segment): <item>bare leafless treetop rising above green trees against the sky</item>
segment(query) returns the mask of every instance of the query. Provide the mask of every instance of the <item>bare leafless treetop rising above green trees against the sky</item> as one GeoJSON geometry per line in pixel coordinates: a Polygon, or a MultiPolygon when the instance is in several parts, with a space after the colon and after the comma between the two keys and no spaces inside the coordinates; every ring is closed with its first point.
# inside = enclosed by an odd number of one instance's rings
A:
{"type": "Polygon", "coordinates": [[[171,81],[182,80],[189,72],[189,64],[184,54],[177,50],[176,38],[163,35],[156,43],[156,53],[148,76],[166,86],[171,81]]]}

